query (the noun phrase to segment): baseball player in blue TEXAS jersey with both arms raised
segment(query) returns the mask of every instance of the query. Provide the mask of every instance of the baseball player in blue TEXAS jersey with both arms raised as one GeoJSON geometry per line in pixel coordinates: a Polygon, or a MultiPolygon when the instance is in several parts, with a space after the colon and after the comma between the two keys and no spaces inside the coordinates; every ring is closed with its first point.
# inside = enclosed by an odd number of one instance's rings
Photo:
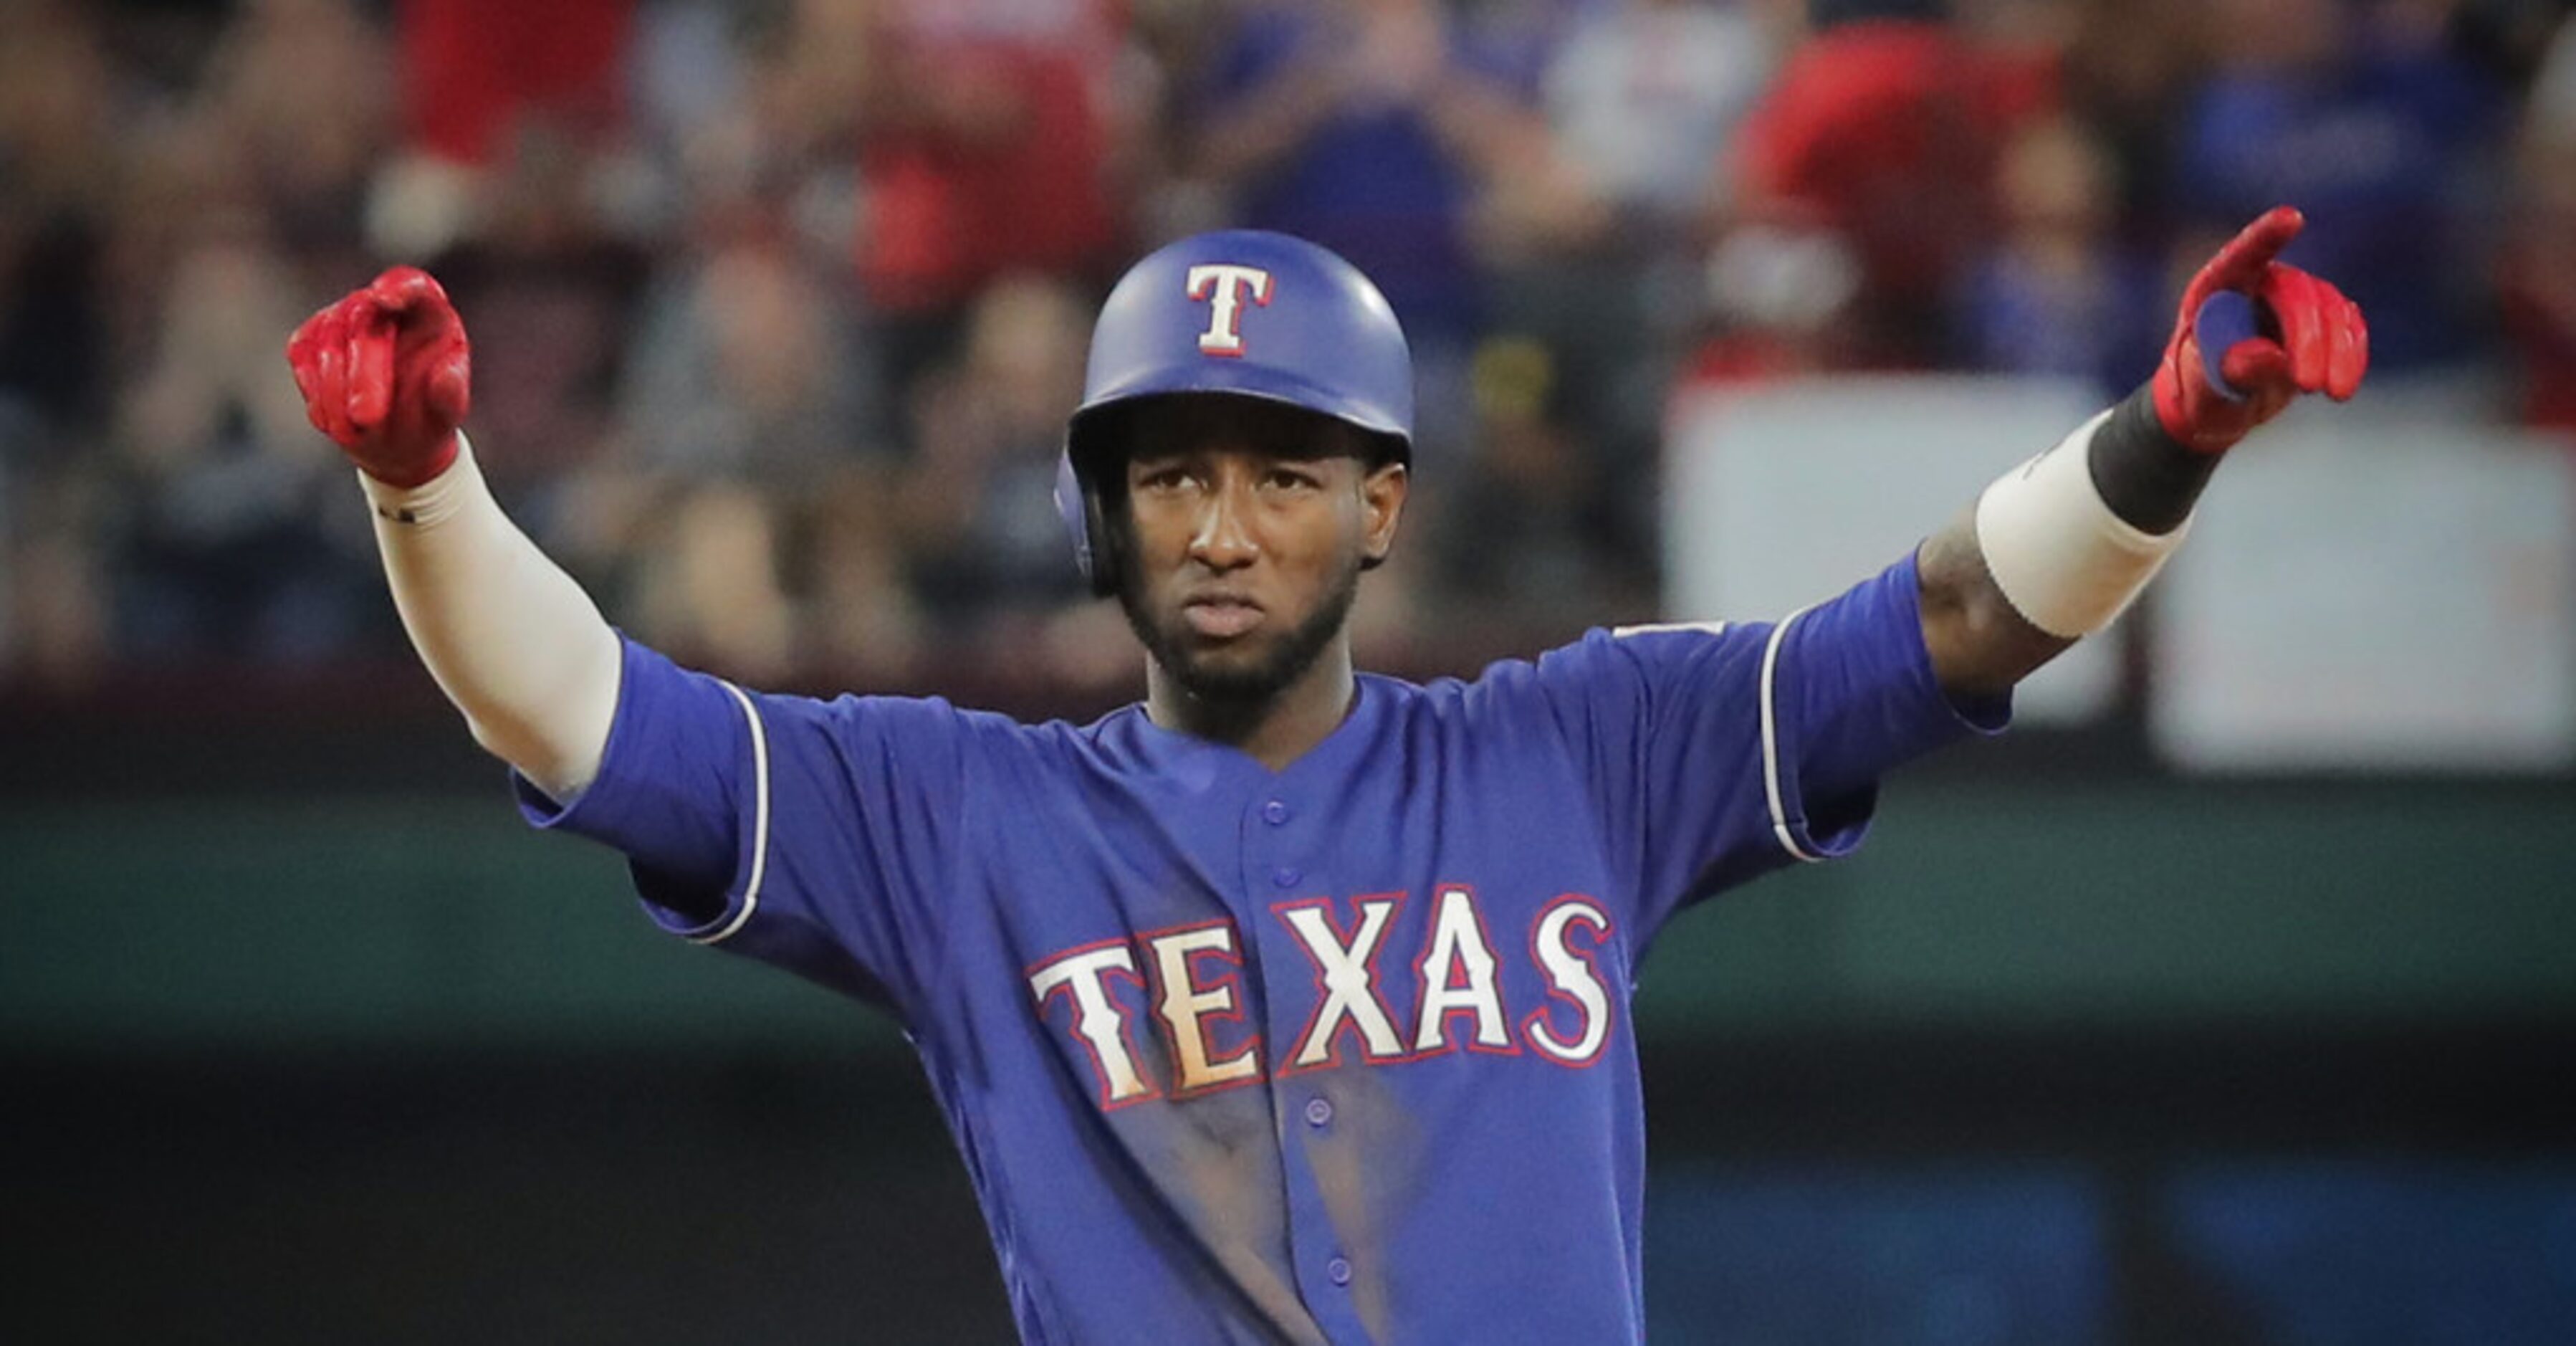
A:
{"type": "Polygon", "coordinates": [[[1066,433],[1077,557],[1146,652],[1144,704],[1079,727],[623,639],[484,490],[420,271],[289,361],[528,820],[623,851],[672,933],[902,1021],[1028,1341],[1636,1341],[1656,931],[1852,851],[1883,771],[1999,730],[2130,603],[2231,444],[2357,389],[2360,312],[2275,260],[2298,227],[2251,224],[2148,387],[1847,593],[1430,686],[1355,673],[1345,621],[1412,485],[1386,302],[1283,235],[1162,248],[1066,433]]]}

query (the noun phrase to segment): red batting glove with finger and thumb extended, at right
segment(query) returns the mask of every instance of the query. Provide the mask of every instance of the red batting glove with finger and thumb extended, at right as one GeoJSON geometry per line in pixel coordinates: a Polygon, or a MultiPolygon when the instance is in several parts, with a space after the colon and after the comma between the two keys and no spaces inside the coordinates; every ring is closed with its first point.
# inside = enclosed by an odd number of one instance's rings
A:
{"type": "Polygon", "coordinates": [[[2344,402],[2370,369],[2370,327],[2344,294],[2272,258],[2308,219],[2272,206],[2210,258],[2182,291],[2174,340],[2156,366],[2156,420],[2184,449],[2223,454],[2254,425],[2272,420],[2300,392],[2344,402]],[[2244,294],[2251,322],[2215,322],[2226,299],[2244,294]],[[2202,351],[2202,340],[2221,346],[2202,351]]]}

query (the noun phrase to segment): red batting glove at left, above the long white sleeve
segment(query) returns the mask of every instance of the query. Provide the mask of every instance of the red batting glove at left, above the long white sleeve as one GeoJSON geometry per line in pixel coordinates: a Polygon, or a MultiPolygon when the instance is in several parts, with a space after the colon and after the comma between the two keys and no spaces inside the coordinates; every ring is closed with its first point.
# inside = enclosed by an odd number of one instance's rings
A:
{"type": "Polygon", "coordinates": [[[312,315],[286,340],[304,415],[368,477],[415,487],[456,462],[471,400],[466,325],[417,266],[312,315]]]}

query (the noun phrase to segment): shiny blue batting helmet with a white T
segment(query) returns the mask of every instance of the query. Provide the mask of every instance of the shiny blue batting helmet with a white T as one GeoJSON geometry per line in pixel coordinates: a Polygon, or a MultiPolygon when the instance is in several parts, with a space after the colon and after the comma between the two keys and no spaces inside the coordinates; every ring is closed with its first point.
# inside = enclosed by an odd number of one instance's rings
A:
{"type": "Polygon", "coordinates": [[[1118,590],[1100,493],[1123,462],[1108,407],[1172,392],[1288,402],[1368,431],[1412,462],[1414,358],[1378,286],[1327,248],[1262,229],[1193,235],[1128,268],[1100,304],[1056,508],[1092,593],[1118,590]]]}

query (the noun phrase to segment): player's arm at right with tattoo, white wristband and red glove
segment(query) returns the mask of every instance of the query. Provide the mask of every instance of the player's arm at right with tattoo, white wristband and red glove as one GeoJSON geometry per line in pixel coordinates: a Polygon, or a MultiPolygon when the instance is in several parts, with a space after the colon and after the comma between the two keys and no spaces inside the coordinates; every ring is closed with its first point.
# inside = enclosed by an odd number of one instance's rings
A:
{"type": "Polygon", "coordinates": [[[1922,544],[1924,645],[1945,691],[1999,694],[2107,627],[2182,544],[2236,441],[2300,395],[2342,402],[2362,387],[2362,309],[2277,260],[2300,224],[2277,206],[2221,248],[2146,387],[1922,544]]]}

